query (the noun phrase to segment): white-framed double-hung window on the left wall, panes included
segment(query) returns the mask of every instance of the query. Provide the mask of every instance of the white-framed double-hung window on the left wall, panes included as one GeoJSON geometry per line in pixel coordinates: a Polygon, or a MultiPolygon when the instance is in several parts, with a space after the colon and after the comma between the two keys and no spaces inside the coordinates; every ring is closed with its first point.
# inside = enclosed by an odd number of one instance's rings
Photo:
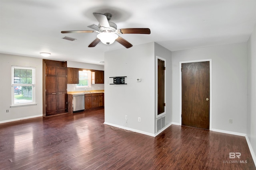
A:
{"type": "Polygon", "coordinates": [[[12,106],[35,105],[34,67],[12,66],[12,106]]]}

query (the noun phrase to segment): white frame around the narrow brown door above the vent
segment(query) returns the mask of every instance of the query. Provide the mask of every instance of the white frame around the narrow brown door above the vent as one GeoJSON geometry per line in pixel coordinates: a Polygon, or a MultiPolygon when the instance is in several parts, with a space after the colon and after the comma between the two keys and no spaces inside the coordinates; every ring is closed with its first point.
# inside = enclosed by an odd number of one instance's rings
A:
{"type": "MultiPolygon", "coordinates": [[[[158,59],[164,61],[164,66],[166,67],[166,59],[156,56],[156,118],[161,117],[166,114],[166,106],[164,106],[164,113],[161,113],[160,115],[157,114],[158,112],[158,59]]],[[[166,70],[164,70],[164,103],[166,103],[166,70]]]]}

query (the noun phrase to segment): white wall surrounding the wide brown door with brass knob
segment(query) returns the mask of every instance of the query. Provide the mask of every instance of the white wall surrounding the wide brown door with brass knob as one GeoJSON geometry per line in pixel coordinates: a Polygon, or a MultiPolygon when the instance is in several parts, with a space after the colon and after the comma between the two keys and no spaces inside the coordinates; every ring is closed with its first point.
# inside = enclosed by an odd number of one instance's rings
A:
{"type": "Polygon", "coordinates": [[[212,129],[245,134],[246,43],[172,51],[172,121],[180,123],[179,62],[201,59],[212,59],[212,129]]]}

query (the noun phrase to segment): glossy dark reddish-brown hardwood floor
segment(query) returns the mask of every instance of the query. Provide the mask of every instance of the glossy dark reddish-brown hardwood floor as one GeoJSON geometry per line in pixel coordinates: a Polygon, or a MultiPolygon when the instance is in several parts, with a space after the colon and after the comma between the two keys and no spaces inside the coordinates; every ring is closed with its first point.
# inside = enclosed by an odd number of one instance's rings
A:
{"type": "Polygon", "coordinates": [[[104,109],[2,123],[0,169],[256,169],[245,137],[177,125],[150,137],[103,123],[104,109]]]}

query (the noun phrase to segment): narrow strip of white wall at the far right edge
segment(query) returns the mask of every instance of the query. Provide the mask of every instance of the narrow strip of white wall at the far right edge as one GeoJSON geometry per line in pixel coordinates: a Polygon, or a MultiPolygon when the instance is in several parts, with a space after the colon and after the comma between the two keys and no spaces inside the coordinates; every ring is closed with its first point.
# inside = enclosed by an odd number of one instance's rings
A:
{"type": "MultiPolygon", "coordinates": [[[[247,42],[248,83],[247,83],[247,136],[256,153],[256,26],[247,42]]],[[[254,155],[254,158],[256,156],[254,155]]],[[[256,160],[254,160],[256,162],[256,160]]]]}

